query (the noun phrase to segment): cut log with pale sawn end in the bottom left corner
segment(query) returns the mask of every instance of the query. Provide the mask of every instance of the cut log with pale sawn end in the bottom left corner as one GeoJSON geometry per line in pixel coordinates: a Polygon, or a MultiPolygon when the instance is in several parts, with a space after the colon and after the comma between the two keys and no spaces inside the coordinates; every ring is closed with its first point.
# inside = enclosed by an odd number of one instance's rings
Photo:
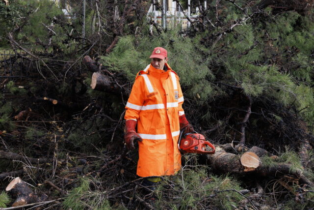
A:
{"type": "Polygon", "coordinates": [[[39,198],[26,184],[25,181],[21,180],[19,177],[12,180],[8,186],[5,188],[5,191],[10,193],[14,198],[15,202],[12,204],[12,207],[23,206],[26,204],[37,203],[45,200],[45,197],[39,198]]]}

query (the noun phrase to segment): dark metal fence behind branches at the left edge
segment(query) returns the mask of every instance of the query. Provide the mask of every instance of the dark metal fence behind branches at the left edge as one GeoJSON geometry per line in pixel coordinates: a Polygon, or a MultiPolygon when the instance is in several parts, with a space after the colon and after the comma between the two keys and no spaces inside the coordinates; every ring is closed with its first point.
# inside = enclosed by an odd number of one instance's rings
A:
{"type": "Polygon", "coordinates": [[[23,51],[0,52],[0,78],[36,77],[32,65],[23,51]]]}

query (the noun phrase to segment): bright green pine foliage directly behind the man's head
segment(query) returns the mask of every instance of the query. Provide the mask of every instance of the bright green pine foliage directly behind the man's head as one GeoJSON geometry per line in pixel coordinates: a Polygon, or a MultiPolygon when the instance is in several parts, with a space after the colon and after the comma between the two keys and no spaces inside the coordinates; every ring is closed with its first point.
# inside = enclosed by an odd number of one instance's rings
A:
{"type": "Polygon", "coordinates": [[[177,30],[172,30],[154,38],[132,35],[121,37],[113,51],[102,57],[103,63],[112,71],[123,71],[133,81],[136,73],[151,62],[149,56],[153,49],[164,47],[168,51],[168,63],[178,73],[181,86],[188,88],[187,94],[198,94],[201,100],[206,100],[212,94],[208,81],[213,78],[208,67],[209,60],[202,57],[202,52],[196,48],[193,40],[177,34],[177,30]]]}

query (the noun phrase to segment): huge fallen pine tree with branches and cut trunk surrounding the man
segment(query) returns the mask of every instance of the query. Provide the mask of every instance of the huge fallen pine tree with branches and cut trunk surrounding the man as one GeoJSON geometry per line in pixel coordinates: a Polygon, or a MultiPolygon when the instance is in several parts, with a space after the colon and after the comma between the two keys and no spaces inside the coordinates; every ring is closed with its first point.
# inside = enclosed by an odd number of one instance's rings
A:
{"type": "MultiPolygon", "coordinates": [[[[24,27],[32,25],[21,19],[26,22],[17,23],[8,38],[13,48],[26,50],[28,60],[17,55],[0,62],[32,67],[41,79],[0,82],[3,190],[10,177],[21,177],[32,190],[25,192],[49,196],[29,200],[25,208],[312,208],[312,1],[207,2],[187,30],[165,30],[155,22],[148,30],[133,22],[145,9],[90,2],[94,15],[87,20],[99,33],[82,47],[81,30],[70,20],[36,19],[49,36],[28,39],[32,29],[24,27]],[[121,8],[125,16],[119,17],[121,8]],[[43,52],[31,52],[31,40],[43,52]],[[153,192],[135,175],[137,151],[124,148],[123,116],[135,75],[155,45],[169,52],[188,120],[217,152],[206,160],[183,155],[182,170],[162,177],[153,192]]],[[[16,200],[12,196],[6,205],[16,200]]]]}

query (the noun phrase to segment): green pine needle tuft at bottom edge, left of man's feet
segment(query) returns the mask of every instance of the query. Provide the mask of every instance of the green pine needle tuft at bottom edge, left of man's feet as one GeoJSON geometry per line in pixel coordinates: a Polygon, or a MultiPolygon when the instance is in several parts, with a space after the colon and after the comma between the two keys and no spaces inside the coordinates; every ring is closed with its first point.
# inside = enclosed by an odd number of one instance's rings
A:
{"type": "Polygon", "coordinates": [[[83,209],[97,209],[108,210],[111,209],[105,194],[101,190],[90,188],[93,182],[96,185],[96,180],[89,180],[81,178],[76,188],[72,189],[62,203],[65,209],[83,210],[83,209]]]}

